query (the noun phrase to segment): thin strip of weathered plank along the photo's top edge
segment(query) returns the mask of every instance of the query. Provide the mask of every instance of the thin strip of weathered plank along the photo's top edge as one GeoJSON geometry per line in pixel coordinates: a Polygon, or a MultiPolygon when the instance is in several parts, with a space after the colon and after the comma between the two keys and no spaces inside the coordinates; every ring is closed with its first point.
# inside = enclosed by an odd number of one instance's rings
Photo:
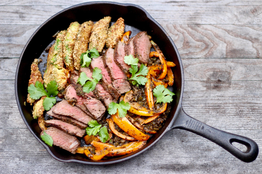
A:
{"type": "MultiPolygon", "coordinates": [[[[107,0],[101,0],[107,1],[107,0]]],[[[37,2],[31,0],[2,0],[0,5],[76,5],[80,3],[88,2],[85,0],[51,0],[51,1],[44,1],[39,0],[37,2]]],[[[150,1],[150,0],[133,0],[132,2],[128,0],[114,0],[113,2],[118,3],[133,3],[137,5],[261,5],[261,2],[258,0],[249,0],[249,1],[236,1],[236,0],[211,0],[211,1],[202,1],[202,0],[183,0],[183,1],[168,1],[168,0],[161,0],[161,1],[150,1]]]]}

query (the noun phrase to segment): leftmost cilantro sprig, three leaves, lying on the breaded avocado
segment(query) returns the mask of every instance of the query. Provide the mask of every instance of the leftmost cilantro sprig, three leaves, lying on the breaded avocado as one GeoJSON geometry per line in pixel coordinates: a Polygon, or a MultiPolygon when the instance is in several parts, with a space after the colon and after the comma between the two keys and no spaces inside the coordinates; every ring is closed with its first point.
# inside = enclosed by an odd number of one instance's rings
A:
{"type": "Polygon", "coordinates": [[[56,103],[56,96],[58,94],[58,85],[55,80],[52,80],[46,85],[46,90],[44,86],[39,81],[35,82],[35,85],[31,84],[28,86],[28,93],[30,97],[34,100],[38,100],[42,96],[46,96],[43,100],[43,107],[46,111],[49,111],[56,103]]]}

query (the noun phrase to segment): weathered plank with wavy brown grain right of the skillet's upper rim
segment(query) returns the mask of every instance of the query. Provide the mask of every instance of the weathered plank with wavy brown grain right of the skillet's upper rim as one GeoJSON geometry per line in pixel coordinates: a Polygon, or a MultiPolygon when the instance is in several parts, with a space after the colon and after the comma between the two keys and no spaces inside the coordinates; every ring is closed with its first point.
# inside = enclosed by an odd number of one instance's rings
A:
{"type": "MultiPolygon", "coordinates": [[[[182,58],[262,58],[262,25],[162,25],[182,58]]],[[[20,57],[38,25],[2,25],[0,57],[20,57]]]]}

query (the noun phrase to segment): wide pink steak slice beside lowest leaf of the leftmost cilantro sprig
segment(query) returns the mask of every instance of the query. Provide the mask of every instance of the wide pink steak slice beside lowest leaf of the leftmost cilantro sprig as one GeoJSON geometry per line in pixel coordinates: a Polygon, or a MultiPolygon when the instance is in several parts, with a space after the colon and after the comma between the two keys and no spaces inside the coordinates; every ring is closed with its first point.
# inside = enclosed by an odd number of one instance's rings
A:
{"type": "Polygon", "coordinates": [[[66,100],[62,100],[53,106],[53,113],[71,117],[85,124],[93,120],[89,115],[83,112],[79,107],[70,105],[66,100]]]}

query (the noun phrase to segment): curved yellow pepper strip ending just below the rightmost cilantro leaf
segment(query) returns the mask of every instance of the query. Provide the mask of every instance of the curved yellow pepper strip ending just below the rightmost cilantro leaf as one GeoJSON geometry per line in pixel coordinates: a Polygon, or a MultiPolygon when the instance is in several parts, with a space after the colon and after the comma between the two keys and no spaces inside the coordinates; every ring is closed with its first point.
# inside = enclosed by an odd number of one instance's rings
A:
{"type": "Polygon", "coordinates": [[[137,102],[130,102],[131,100],[133,100],[133,91],[132,90],[125,93],[123,101],[129,103],[129,105],[130,105],[130,109],[128,110],[129,112],[131,112],[133,114],[141,115],[141,116],[153,116],[153,115],[162,114],[163,112],[165,112],[166,106],[167,106],[167,103],[166,103],[164,106],[162,106],[158,110],[151,111],[151,110],[139,105],[137,102]]]}

